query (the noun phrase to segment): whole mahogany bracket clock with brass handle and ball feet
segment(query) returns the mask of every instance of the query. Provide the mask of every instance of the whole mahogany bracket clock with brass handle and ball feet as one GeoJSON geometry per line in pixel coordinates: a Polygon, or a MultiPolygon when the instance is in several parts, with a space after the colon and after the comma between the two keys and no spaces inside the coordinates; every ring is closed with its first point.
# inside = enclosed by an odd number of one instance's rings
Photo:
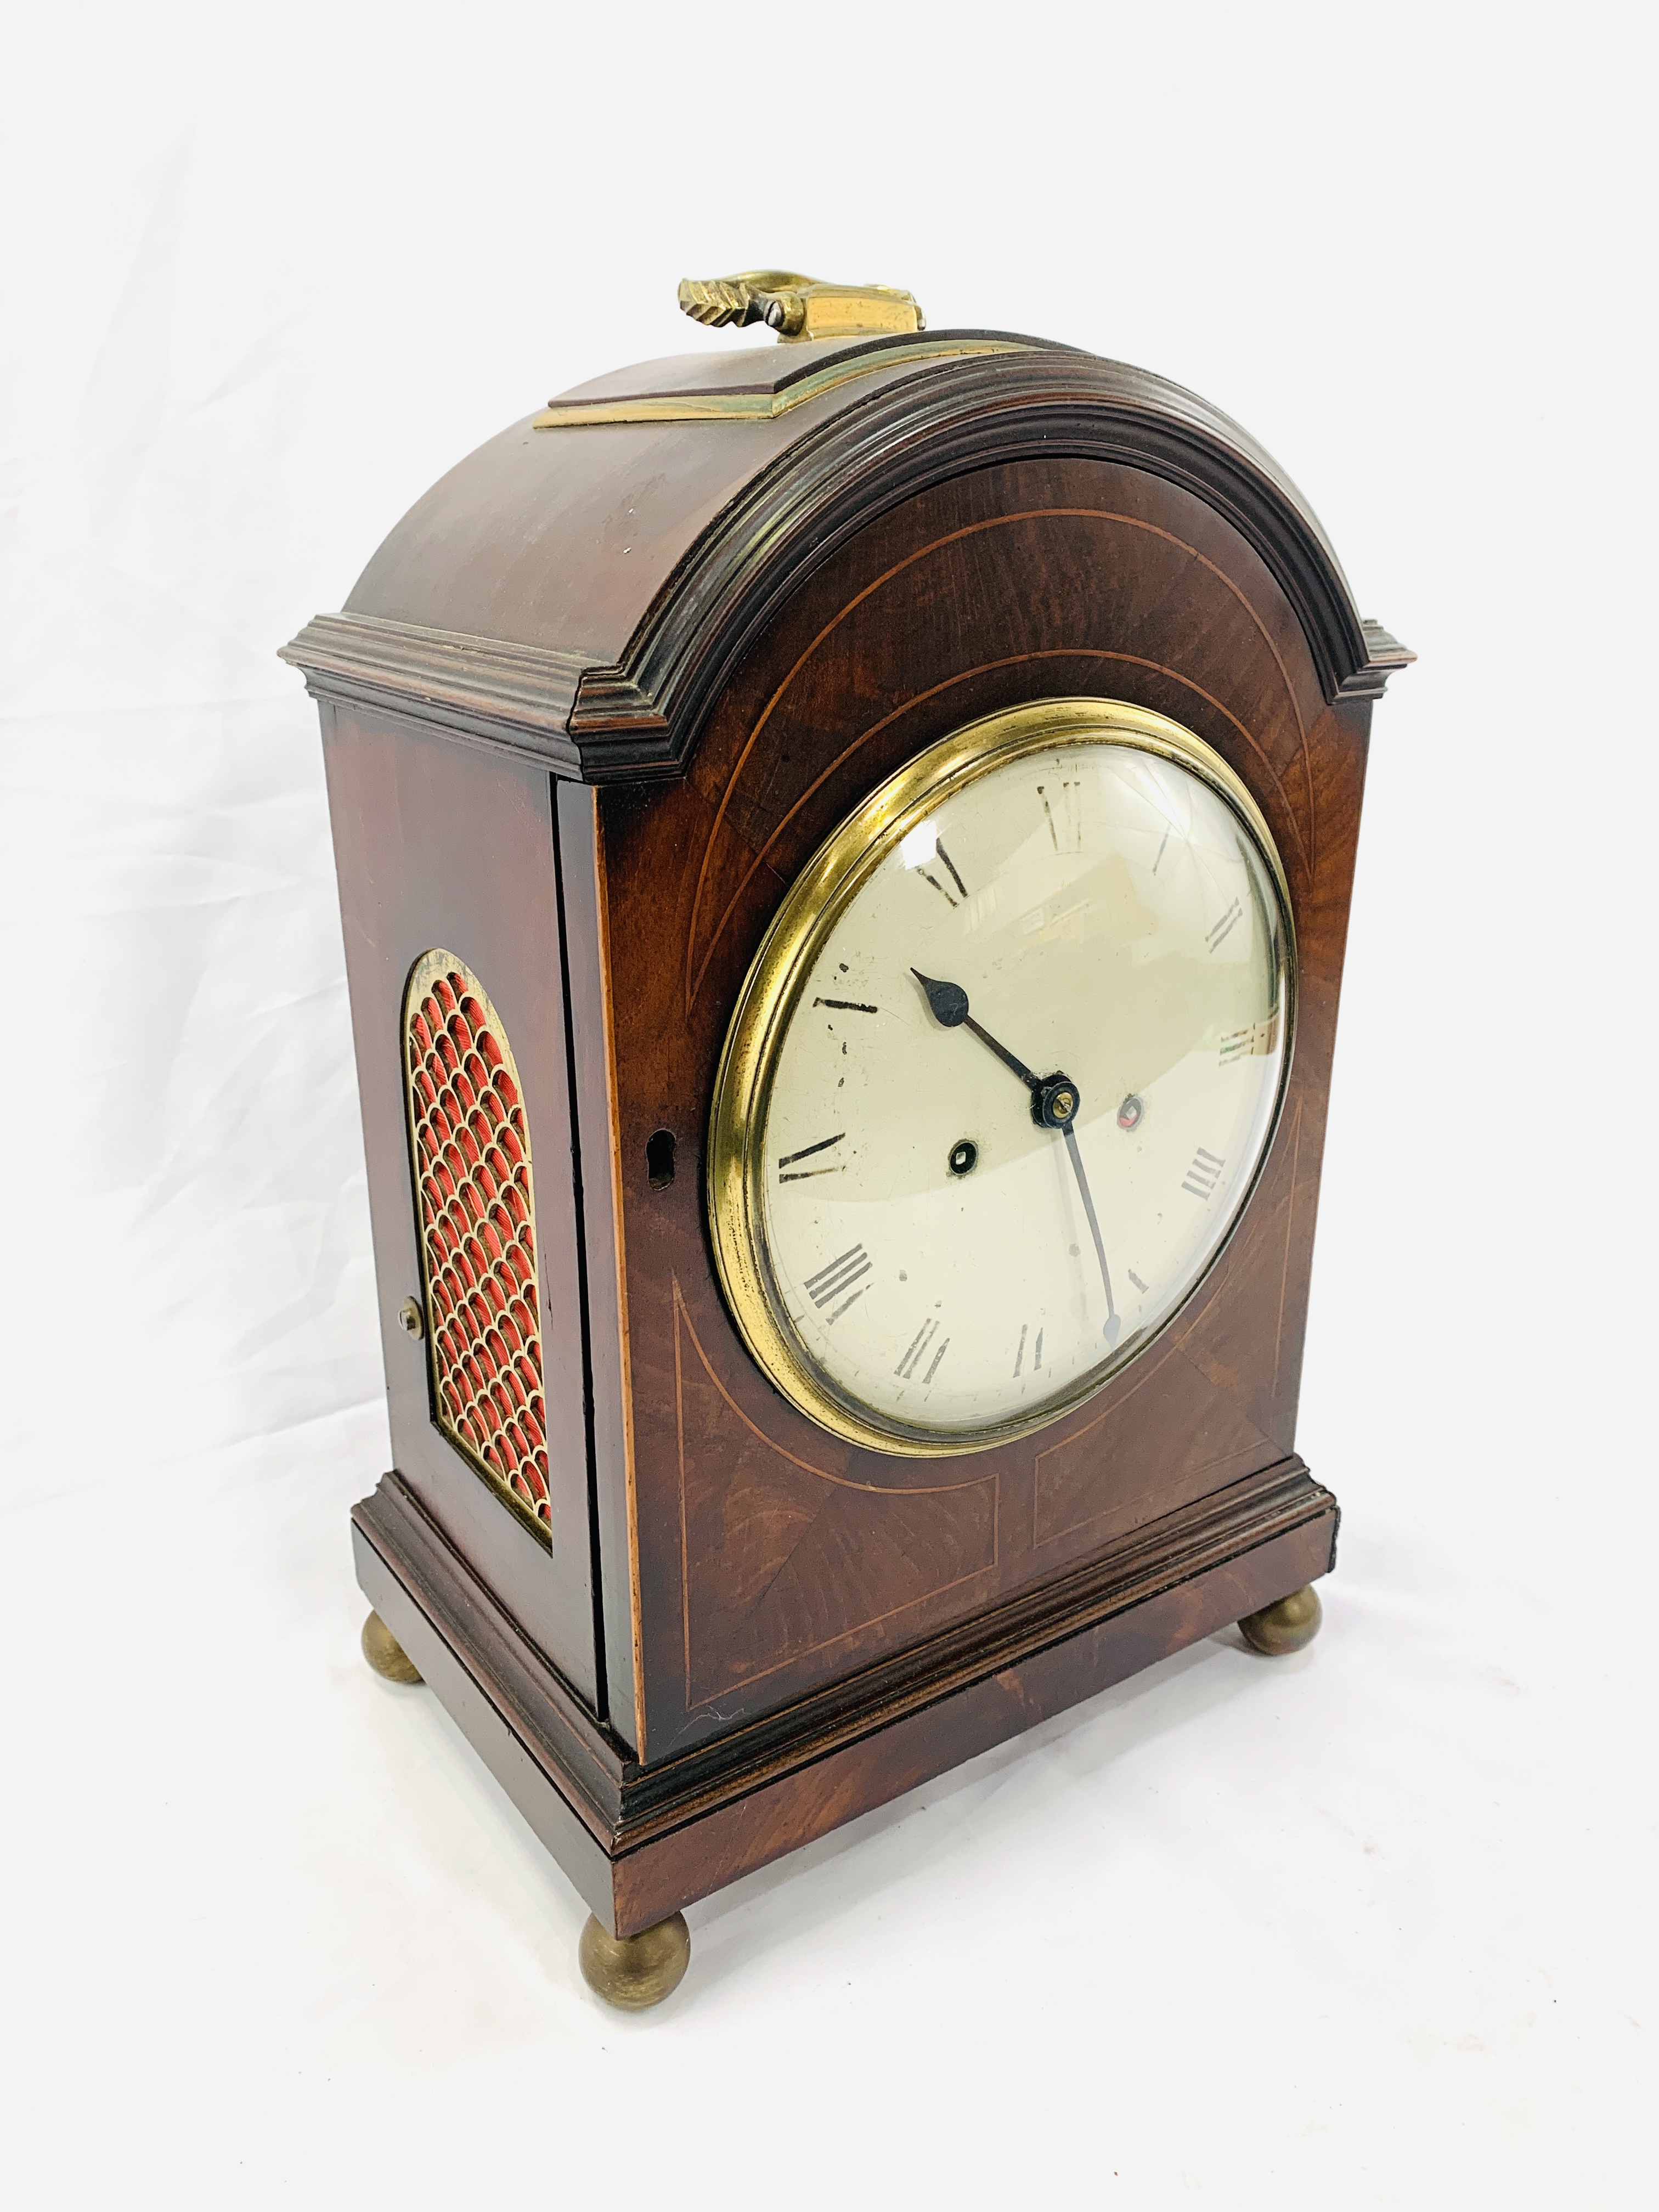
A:
{"type": "Polygon", "coordinates": [[[321,706],[425,1681],[650,2004],[681,1907],[1239,1621],[1296,1458],[1371,701],[1305,500],[1190,392],[686,283],[776,336],[442,478],[321,706]]]}

